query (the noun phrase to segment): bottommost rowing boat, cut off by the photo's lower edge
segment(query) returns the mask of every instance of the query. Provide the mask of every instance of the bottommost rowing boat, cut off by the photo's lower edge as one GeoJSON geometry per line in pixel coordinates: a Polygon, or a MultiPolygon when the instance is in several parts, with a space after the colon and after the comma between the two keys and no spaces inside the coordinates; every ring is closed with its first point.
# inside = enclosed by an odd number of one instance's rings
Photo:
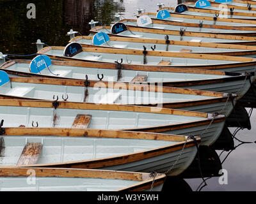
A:
{"type": "Polygon", "coordinates": [[[67,168],[0,168],[0,172],[0,191],[161,191],[166,177],[159,173],[153,178],[150,173],[67,168]]]}

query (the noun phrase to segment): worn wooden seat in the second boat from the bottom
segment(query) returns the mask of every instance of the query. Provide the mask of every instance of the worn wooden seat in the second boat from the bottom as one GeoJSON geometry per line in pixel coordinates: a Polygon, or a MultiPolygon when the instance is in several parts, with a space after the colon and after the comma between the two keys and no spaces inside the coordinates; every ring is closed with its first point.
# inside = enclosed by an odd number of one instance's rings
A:
{"type": "Polygon", "coordinates": [[[36,164],[38,161],[38,157],[40,156],[42,147],[42,143],[27,143],[22,150],[17,165],[23,166],[29,164],[36,164]]]}

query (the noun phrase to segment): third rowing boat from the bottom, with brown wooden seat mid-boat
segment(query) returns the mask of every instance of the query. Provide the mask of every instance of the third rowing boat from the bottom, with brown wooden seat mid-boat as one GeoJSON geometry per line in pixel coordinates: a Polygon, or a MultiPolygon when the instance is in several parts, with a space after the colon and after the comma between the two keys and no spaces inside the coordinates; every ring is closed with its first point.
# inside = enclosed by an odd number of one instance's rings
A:
{"type": "Polygon", "coordinates": [[[5,127],[89,128],[147,131],[200,136],[202,145],[214,143],[225,116],[161,107],[67,101],[0,100],[5,127]]]}

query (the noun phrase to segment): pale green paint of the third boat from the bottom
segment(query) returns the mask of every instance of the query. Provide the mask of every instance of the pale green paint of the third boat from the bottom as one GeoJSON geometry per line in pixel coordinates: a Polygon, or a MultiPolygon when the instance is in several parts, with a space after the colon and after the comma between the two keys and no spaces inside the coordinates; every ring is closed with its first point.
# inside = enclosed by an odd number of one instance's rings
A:
{"type": "MultiPolygon", "coordinates": [[[[154,110],[152,110],[154,111],[154,110]]],[[[138,131],[148,127],[172,126],[174,124],[186,124],[188,122],[204,121],[203,117],[191,117],[184,115],[169,115],[160,113],[142,113],[127,111],[111,111],[111,110],[79,110],[67,108],[34,108],[20,106],[0,106],[0,118],[4,120],[4,127],[31,127],[38,122],[40,128],[72,128],[72,124],[77,114],[92,115],[92,119],[88,129],[119,129],[127,130],[139,128],[138,131]]],[[[211,127],[217,127],[220,132],[224,122],[216,122],[211,127]]],[[[177,131],[184,131],[179,135],[191,135],[192,129],[197,133],[194,136],[202,138],[201,145],[211,145],[212,138],[216,140],[220,136],[219,131],[212,131],[211,134],[201,135],[204,132],[204,126],[195,126],[177,131]],[[205,140],[204,138],[207,137],[205,140]],[[209,137],[209,138],[208,138],[209,137]]],[[[176,131],[168,131],[163,133],[176,134],[176,131]]]]}

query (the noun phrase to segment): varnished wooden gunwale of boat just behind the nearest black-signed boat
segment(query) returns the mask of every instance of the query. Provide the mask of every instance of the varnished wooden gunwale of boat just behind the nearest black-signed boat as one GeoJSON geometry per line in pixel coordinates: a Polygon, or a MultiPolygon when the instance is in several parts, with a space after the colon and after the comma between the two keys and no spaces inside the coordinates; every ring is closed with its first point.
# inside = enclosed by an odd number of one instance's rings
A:
{"type": "MultiPolygon", "coordinates": [[[[80,40],[80,39],[92,40],[93,36],[76,36],[69,43],[80,40]]],[[[125,38],[125,37],[109,37],[110,41],[122,41],[122,42],[131,42],[131,43],[152,43],[152,44],[161,44],[166,45],[166,40],[158,39],[148,39],[148,38],[125,38]]],[[[84,46],[83,43],[81,43],[84,46]]],[[[255,46],[246,46],[246,45],[233,45],[233,44],[221,44],[221,43],[204,43],[204,42],[191,42],[191,41],[175,41],[170,40],[169,45],[181,45],[181,46],[191,46],[191,47],[209,47],[209,48],[227,48],[227,49],[237,49],[237,50],[252,50],[256,51],[255,46]]],[[[87,45],[93,47],[99,47],[97,45],[87,45]]],[[[221,52],[211,52],[211,54],[221,53],[221,52]]]]}

